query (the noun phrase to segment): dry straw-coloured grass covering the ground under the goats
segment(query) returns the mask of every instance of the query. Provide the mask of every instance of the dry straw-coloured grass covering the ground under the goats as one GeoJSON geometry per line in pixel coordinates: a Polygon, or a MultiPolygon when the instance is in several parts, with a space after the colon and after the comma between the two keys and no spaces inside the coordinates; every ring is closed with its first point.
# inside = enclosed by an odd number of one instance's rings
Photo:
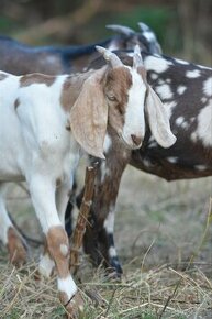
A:
{"type": "MultiPolygon", "coordinates": [[[[210,178],[167,184],[129,168],[115,224],[124,276],[120,283],[110,282],[83,256],[77,276],[86,301],[81,318],[211,318],[210,194],[210,178]]],[[[19,190],[19,196],[24,193],[19,190]]],[[[19,211],[15,219],[27,234],[38,237],[29,200],[10,199],[9,207],[19,211]]],[[[0,318],[64,318],[55,278],[34,279],[37,255],[33,250],[29,264],[16,271],[1,249],[0,318]]]]}

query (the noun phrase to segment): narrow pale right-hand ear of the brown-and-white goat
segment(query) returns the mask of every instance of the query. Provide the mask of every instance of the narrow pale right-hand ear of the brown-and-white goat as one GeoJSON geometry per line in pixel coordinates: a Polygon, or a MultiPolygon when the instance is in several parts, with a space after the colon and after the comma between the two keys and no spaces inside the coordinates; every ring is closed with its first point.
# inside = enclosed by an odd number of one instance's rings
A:
{"type": "Polygon", "coordinates": [[[170,147],[177,139],[170,130],[168,112],[150,86],[148,86],[145,108],[155,140],[160,146],[170,147]]]}

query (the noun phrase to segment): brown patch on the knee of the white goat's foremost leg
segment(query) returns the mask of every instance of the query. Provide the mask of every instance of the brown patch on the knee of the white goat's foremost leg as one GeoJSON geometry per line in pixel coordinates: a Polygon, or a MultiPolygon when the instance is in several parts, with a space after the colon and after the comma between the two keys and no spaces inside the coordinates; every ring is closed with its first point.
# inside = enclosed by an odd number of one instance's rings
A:
{"type": "Polygon", "coordinates": [[[60,245],[69,248],[68,237],[60,226],[52,227],[46,234],[46,242],[51,257],[55,261],[59,278],[66,278],[69,275],[69,254],[64,256],[60,245]]]}

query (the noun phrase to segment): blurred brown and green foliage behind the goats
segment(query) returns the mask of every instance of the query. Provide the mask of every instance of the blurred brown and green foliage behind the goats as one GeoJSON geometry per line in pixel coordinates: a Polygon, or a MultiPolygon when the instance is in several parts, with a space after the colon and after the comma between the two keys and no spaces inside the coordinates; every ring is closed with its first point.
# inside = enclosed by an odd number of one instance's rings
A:
{"type": "Polygon", "coordinates": [[[168,55],[211,65],[212,0],[0,0],[0,34],[32,45],[107,38],[105,24],[147,23],[168,55]]]}

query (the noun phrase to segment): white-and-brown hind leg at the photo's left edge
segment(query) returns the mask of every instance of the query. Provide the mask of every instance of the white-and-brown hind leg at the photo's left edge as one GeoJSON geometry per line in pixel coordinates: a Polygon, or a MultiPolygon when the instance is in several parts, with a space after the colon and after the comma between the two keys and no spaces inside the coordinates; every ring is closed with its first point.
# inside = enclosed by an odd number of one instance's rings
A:
{"type": "Polygon", "coordinates": [[[19,267],[25,263],[26,251],[5,208],[7,186],[0,184],[0,240],[8,248],[11,263],[19,267]]]}

